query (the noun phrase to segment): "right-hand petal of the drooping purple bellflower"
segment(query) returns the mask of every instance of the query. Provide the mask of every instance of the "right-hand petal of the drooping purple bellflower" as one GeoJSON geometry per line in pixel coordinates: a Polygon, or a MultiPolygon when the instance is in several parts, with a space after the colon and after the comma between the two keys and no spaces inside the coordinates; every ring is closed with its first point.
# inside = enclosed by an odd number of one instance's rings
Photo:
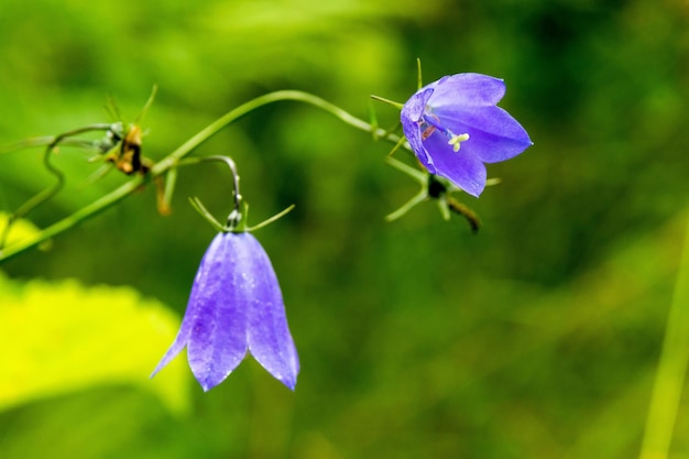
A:
{"type": "Polygon", "coordinates": [[[250,292],[249,351],[276,380],[294,391],[299,359],[289,334],[285,306],[275,271],[259,241],[250,233],[239,234],[250,249],[250,267],[244,285],[250,292]]]}

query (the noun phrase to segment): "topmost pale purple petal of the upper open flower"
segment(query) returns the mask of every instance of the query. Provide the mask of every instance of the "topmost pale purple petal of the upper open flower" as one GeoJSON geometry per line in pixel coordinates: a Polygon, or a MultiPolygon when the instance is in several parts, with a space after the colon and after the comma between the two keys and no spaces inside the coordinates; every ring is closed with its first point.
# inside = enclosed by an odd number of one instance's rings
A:
{"type": "Polygon", "coordinates": [[[434,88],[435,91],[427,101],[434,110],[448,106],[494,106],[505,95],[505,83],[502,79],[481,74],[446,76],[434,88]]]}

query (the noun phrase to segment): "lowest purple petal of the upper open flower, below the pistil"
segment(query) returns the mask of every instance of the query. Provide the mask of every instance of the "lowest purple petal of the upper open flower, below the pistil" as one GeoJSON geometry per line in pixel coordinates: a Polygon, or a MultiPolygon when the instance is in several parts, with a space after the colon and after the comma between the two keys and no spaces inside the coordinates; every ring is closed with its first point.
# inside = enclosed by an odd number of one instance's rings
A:
{"type": "Polygon", "coordinates": [[[485,166],[478,156],[466,151],[463,144],[461,150],[456,152],[452,145],[448,144],[447,138],[437,131],[424,143],[433,156],[438,175],[472,196],[478,197],[483,192],[486,178],[485,166]]]}

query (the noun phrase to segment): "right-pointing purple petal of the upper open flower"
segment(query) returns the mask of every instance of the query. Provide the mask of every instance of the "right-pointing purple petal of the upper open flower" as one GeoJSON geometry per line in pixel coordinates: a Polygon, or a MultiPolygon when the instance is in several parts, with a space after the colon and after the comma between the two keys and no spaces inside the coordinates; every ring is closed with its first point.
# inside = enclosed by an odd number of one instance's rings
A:
{"type": "Polygon", "coordinates": [[[484,163],[508,160],[533,145],[522,124],[500,107],[444,107],[436,114],[450,131],[468,133],[461,151],[484,163]]]}

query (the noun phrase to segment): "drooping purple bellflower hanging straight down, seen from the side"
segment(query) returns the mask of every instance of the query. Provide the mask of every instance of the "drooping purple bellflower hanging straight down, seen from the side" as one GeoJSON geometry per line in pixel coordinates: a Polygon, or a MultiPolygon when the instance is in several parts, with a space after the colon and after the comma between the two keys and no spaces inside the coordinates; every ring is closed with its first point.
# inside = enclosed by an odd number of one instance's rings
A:
{"type": "Polygon", "coordinates": [[[194,280],[177,338],[153,375],[186,346],[204,391],[220,384],[249,351],[291,390],[299,360],[287,327],[282,293],[267,254],[249,232],[221,232],[194,280]]]}

